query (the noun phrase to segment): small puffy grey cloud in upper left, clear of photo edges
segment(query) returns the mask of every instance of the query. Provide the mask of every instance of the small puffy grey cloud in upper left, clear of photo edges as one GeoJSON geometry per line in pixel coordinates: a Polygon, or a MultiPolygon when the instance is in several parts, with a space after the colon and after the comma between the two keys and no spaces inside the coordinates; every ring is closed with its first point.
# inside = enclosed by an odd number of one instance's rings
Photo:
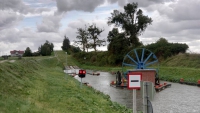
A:
{"type": "Polygon", "coordinates": [[[62,16],[45,16],[40,24],[37,24],[38,32],[58,32],[61,26],[62,16]]]}

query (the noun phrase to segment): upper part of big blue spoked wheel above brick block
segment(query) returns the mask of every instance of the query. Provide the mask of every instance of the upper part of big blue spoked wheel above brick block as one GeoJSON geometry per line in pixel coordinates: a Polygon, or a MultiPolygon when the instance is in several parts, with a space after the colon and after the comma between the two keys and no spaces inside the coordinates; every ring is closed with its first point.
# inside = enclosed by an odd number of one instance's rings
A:
{"type": "Polygon", "coordinates": [[[137,48],[128,52],[122,62],[123,74],[134,69],[156,69],[158,73],[158,59],[156,55],[148,49],[137,48]]]}

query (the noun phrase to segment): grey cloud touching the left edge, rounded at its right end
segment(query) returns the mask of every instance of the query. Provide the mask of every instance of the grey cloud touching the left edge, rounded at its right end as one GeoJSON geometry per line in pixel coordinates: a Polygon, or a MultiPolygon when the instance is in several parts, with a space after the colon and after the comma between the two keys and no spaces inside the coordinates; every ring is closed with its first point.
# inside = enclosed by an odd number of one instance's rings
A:
{"type": "Polygon", "coordinates": [[[0,31],[17,25],[22,19],[23,16],[15,12],[0,10],[0,31]]]}

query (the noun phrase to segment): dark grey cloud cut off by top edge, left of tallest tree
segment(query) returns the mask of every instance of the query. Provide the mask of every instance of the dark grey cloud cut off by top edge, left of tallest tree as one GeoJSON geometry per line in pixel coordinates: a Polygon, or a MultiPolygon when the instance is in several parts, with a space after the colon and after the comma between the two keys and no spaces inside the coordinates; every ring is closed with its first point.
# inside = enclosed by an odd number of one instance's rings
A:
{"type": "Polygon", "coordinates": [[[58,12],[72,10],[93,12],[94,9],[103,4],[105,0],[56,0],[58,12]]]}

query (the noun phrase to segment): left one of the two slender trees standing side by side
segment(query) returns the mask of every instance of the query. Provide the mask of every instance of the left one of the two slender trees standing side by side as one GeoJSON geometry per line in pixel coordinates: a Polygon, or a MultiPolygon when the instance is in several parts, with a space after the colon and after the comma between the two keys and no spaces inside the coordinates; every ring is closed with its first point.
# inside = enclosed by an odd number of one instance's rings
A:
{"type": "Polygon", "coordinates": [[[77,29],[78,32],[77,32],[77,36],[76,38],[78,39],[78,41],[75,41],[75,44],[78,44],[78,45],[82,45],[82,49],[83,51],[85,52],[85,49],[87,48],[87,51],[88,51],[88,32],[86,30],[86,27],[85,29],[83,28],[78,28],[77,29]]]}

